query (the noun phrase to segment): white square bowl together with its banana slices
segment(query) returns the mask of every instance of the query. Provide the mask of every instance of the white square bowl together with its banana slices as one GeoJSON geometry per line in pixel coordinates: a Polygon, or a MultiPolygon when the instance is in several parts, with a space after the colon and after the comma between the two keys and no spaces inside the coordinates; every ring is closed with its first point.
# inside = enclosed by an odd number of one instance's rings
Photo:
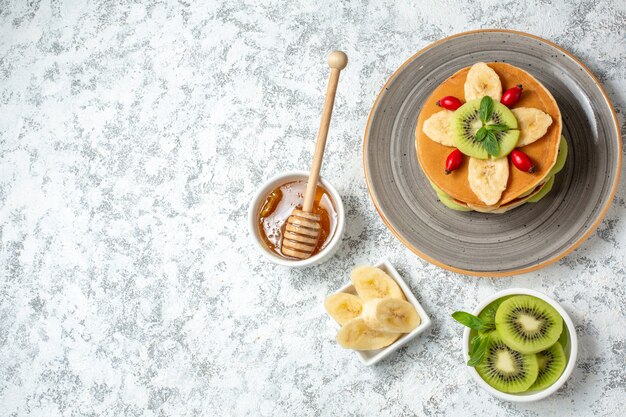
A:
{"type": "Polygon", "coordinates": [[[430,327],[430,318],[388,261],[356,267],[350,279],[324,307],[340,326],[338,344],[354,350],[363,364],[377,363],[430,327]]]}

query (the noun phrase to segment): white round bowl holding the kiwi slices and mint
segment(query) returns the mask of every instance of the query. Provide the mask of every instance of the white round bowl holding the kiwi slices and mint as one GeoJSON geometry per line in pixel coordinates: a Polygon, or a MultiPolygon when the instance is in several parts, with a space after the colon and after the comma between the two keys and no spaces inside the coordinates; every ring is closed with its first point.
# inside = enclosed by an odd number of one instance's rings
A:
{"type": "MultiPolygon", "coordinates": [[[[565,366],[565,370],[563,371],[559,379],[557,379],[554,384],[550,385],[549,387],[541,391],[533,391],[530,393],[509,394],[506,392],[498,391],[497,389],[493,388],[491,385],[487,384],[480,377],[480,375],[478,375],[478,372],[476,372],[476,369],[474,369],[473,367],[468,366],[467,368],[469,370],[470,375],[472,376],[472,378],[474,378],[476,383],[480,385],[485,391],[493,395],[494,397],[507,400],[507,401],[514,401],[514,402],[531,402],[531,401],[542,400],[554,394],[556,391],[558,391],[558,389],[561,388],[563,384],[565,384],[565,381],[567,381],[567,379],[570,377],[570,375],[574,371],[574,366],[576,365],[576,356],[578,355],[578,339],[576,337],[576,329],[574,328],[574,322],[572,322],[572,319],[569,317],[567,312],[563,309],[563,307],[561,307],[561,305],[558,302],[548,297],[544,293],[541,293],[535,290],[529,290],[527,288],[510,288],[508,290],[497,292],[493,294],[491,297],[488,297],[485,300],[483,300],[483,302],[480,303],[478,307],[474,309],[472,314],[477,316],[491,302],[497,300],[500,297],[506,297],[507,295],[532,295],[534,297],[540,298],[546,303],[550,304],[552,307],[554,307],[556,311],[559,312],[561,317],[563,317],[563,321],[565,323],[565,326],[567,327],[567,331],[569,332],[569,341],[570,341],[569,348],[564,347],[565,356],[567,356],[567,365],[565,366]]],[[[466,363],[469,360],[470,332],[471,330],[466,327],[465,332],[463,333],[463,356],[465,357],[466,363]]]]}

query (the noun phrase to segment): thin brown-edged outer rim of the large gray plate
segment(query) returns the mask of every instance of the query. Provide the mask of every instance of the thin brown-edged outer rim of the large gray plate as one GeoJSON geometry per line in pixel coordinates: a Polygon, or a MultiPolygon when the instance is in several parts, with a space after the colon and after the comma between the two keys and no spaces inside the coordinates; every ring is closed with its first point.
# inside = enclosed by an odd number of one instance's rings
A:
{"type": "Polygon", "coordinates": [[[378,215],[380,216],[380,218],[382,219],[383,223],[385,224],[385,226],[387,226],[387,228],[391,231],[391,233],[393,233],[396,238],[404,245],[406,246],[408,249],[410,249],[413,253],[415,253],[416,255],[418,255],[420,258],[430,262],[433,265],[436,265],[440,268],[443,269],[447,269],[449,271],[452,272],[456,272],[459,274],[463,274],[463,275],[471,275],[471,276],[478,276],[478,277],[492,277],[492,278],[498,278],[498,277],[507,277],[507,276],[512,276],[512,275],[519,275],[519,274],[523,274],[523,273],[527,273],[527,272],[532,272],[532,271],[536,271],[538,269],[541,269],[543,267],[546,267],[550,264],[553,264],[557,261],[559,261],[560,259],[563,259],[564,257],[566,257],[567,255],[569,255],[571,252],[573,252],[576,248],[578,248],[580,245],[583,244],[583,242],[585,242],[589,236],[591,236],[591,234],[598,228],[598,226],[600,225],[600,223],[602,222],[602,220],[604,219],[604,217],[606,216],[606,213],[608,212],[609,208],[611,207],[612,203],[613,203],[613,199],[615,197],[615,193],[617,191],[617,185],[619,183],[619,178],[620,178],[620,173],[621,173],[621,167],[622,167],[622,141],[621,141],[621,130],[620,130],[620,126],[619,126],[619,121],[617,120],[617,114],[615,113],[615,108],[613,107],[613,104],[611,103],[611,100],[609,99],[609,96],[607,95],[604,87],[602,86],[602,83],[600,83],[600,81],[598,80],[598,78],[593,74],[593,72],[587,67],[587,65],[585,65],[580,59],[578,59],[574,54],[572,54],[571,52],[569,52],[568,50],[562,48],[561,46],[557,45],[554,42],[551,42],[549,40],[546,40],[544,38],[541,38],[539,36],[530,34],[530,33],[526,33],[526,32],[521,32],[521,31],[516,31],[516,30],[510,30],[510,29],[476,29],[476,30],[469,30],[469,31],[465,31],[465,32],[459,32],[456,33],[454,35],[451,36],[447,36],[445,38],[439,39],[438,41],[435,41],[433,43],[430,43],[428,45],[426,45],[424,48],[420,49],[418,52],[416,52],[415,54],[411,55],[407,60],[405,60],[392,74],[391,76],[389,76],[389,78],[387,79],[387,81],[385,82],[385,84],[382,86],[382,88],[380,89],[380,91],[378,92],[378,94],[376,95],[376,100],[374,100],[374,104],[372,105],[372,108],[370,110],[369,116],[367,118],[367,124],[365,126],[365,133],[363,135],[363,147],[362,147],[362,159],[363,159],[363,171],[365,172],[365,184],[367,186],[367,192],[370,195],[370,198],[372,200],[372,202],[374,203],[374,207],[376,208],[376,211],[378,212],[378,215]],[[367,139],[369,137],[369,132],[370,132],[370,127],[372,124],[372,117],[378,107],[378,102],[382,96],[382,94],[387,90],[387,86],[396,78],[396,76],[406,67],[408,66],[411,62],[413,62],[414,59],[416,59],[418,56],[422,55],[424,52],[444,43],[447,41],[450,41],[452,39],[458,38],[458,37],[462,37],[462,36],[467,36],[467,35],[472,35],[472,34],[476,34],[476,33],[508,33],[508,34],[514,34],[514,35],[518,35],[518,36],[523,36],[532,40],[536,40],[536,41],[540,41],[540,42],[544,42],[550,46],[553,46],[555,48],[557,48],[559,51],[561,51],[563,54],[565,54],[566,56],[568,56],[570,59],[572,59],[576,64],[578,64],[583,71],[586,73],[587,76],[589,76],[594,83],[596,84],[596,86],[599,88],[600,92],[602,93],[602,96],[604,97],[604,100],[606,101],[606,103],[609,106],[609,109],[611,110],[611,115],[613,116],[613,127],[615,128],[616,132],[617,132],[617,148],[618,148],[618,158],[617,158],[617,169],[616,169],[616,175],[613,179],[613,184],[611,186],[611,191],[609,192],[609,198],[607,198],[606,202],[604,203],[604,206],[602,207],[602,209],[600,210],[600,213],[598,214],[597,218],[594,220],[594,222],[588,227],[588,229],[585,231],[585,233],[574,243],[572,243],[569,247],[567,247],[565,250],[556,253],[554,256],[552,256],[551,258],[543,261],[543,262],[539,262],[539,263],[535,263],[529,267],[525,267],[525,268],[517,268],[517,269],[511,269],[511,270],[506,270],[506,271],[472,271],[472,270],[466,270],[466,269],[462,269],[462,268],[458,268],[452,265],[447,265],[437,259],[434,259],[433,257],[423,253],[422,251],[420,251],[419,249],[417,249],[416,247],[412,246],[406,239],[404,239],[402,237],[402,235],[400,233],[398,233],[398,231],[396,231],[394,229],[394,227],[391,225],[391,223],[389,222],[389,220],[387,219],[387,217],[385,217],[385,215],[383,214],[382,210],[380,209],[379,205],[378,205],[378,201],[376,200],[376,198],[374,197],[374,194],[372,193],[372,184],[371,184],[371,180],[368,176],[368,169],[367,169],[367,164],[366,164],[366,149],[367,149],[367,139]]]}

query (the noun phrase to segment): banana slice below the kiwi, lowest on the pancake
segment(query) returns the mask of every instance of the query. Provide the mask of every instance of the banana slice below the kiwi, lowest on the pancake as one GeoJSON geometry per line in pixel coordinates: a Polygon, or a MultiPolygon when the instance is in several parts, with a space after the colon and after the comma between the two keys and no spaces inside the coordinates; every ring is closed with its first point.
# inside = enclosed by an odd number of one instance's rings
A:
{"type": "Polygon", "coordinates": [[[509,160],[470,158],[467,179],[476,197],[488,206],[495,205],[509,180],[509,160]]]}

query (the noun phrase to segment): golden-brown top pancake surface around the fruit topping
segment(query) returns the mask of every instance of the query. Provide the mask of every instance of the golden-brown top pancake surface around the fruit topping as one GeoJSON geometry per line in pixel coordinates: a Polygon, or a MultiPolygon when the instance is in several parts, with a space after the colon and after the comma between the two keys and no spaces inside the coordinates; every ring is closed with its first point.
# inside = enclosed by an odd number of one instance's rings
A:
{"type": "Polygon", "coordinates": [[[444,171],[445,161],[454,148],[443,146],[432,141],[422,131],[424,121],[434,113],[442,111],[436,105],[437,100],[444,96],[454,96],[464,100],[464,84],[470,67],[464,68],[441,83],[424,103],[417,119],[415,131],[415,147],[417,158],[422,171],[428,179],[441,188],[446,194],[457,201],[468,203],[477,208],[495,209],[518,199],[524,193],[528,193],[545,179],[550,169],[556,163],[559,140],[563,128],[561,112],[552,94],[532,75],[526,71],[502,62],[490,62],[489,65],[500,77],[502,91],[522,84],[524,91],[513,108],[534,107],[552,117],[552,125],[546,134],[531,143],[519,148],[526,153],[535,164],[535,172],[530,174],[520,171],[509,162],[509,180],[507,188],[502,193],[500,200],[494,206],[487,206],[472,191],[467,179],[469,157],[464,156],[461,167],[446,175],[444,171]]]}

